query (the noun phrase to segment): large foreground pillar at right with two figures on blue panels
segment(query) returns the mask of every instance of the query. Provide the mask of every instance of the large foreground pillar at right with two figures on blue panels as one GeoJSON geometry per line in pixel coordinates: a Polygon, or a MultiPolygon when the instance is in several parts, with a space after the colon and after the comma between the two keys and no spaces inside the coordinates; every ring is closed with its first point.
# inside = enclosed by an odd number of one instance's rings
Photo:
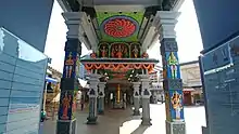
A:
{"type": "Polygon", "coordinates": [[[166,108],[166,134],[185,134],[183,81],[178,62],[175,25],[178,12],[159,11],[160,41],[163,63],[163,88],[166,108]]]}

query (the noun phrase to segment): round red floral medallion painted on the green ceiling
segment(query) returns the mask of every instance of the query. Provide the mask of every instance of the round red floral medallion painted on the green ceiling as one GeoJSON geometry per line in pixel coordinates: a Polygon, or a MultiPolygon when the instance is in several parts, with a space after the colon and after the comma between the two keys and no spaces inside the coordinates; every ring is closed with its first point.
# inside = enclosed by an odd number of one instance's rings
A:
{"type": "Polygon", "coordinates": [[[114,38],[126,38],[136,31],[136,25],[126,18],[110,19],[104,25],[104,32],[114,38]]]}

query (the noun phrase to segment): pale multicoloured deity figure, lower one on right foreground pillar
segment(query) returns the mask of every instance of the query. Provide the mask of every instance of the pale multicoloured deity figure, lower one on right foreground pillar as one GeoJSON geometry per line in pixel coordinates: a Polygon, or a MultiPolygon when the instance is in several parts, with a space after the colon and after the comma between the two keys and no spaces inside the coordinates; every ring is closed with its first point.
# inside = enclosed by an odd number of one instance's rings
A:
{"type": "Polygon", "coordinates": [[[171,98],[171,103],[172,103],[172,106],[173,106],[175,113],[176,113],[176,120],[180,120],[181,119],[180,111],[183,109],[181,95],[177,91],[174,92],[174,94],[171,98]]]}

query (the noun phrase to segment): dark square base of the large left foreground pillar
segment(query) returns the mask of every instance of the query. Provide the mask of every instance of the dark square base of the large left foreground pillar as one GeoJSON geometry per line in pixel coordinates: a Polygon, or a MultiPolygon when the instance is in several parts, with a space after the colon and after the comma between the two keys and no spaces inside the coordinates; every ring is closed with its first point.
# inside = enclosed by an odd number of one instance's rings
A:
{"type": "Polygon", "coordinates": [[[76,119],[58,120],[55,134],[76,134],[76,119]]]}

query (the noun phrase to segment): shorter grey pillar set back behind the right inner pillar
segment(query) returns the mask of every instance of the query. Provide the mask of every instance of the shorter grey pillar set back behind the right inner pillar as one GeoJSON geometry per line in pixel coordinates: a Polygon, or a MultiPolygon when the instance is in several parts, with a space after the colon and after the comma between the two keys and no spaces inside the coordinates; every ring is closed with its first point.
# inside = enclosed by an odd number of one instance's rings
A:
{"type": "Polygon", "coordinates": [[[139,112],[139,100],[140,100],[140,94],[139,94],[139,86],[140,86],[140,82],[133,82],[133,86],[134,86],[134,116],[140,116],[139,112]]]}

